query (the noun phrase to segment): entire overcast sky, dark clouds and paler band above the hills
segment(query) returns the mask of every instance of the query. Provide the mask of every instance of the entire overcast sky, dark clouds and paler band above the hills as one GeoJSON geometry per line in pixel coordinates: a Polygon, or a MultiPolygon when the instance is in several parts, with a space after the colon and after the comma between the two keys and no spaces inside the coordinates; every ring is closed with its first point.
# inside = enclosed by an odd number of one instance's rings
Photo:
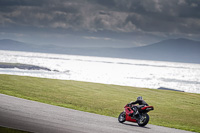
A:
{"type": "Polygon", "coordinates": [[[0,39],[68,47],[200,40],[200,0],[0,0],[0,39]]]}

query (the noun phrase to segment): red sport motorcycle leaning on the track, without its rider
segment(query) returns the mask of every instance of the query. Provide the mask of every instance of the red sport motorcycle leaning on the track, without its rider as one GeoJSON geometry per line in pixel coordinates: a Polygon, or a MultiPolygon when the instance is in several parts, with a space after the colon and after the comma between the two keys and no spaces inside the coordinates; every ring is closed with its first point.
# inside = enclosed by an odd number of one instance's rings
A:
{"type": "Polygon", "coordinates": [[[149,111],[154,110],[153,106],[143,106],[138,108],[138,113],[134,114],[134,110],[136,105],[129,105],[127,104],[124,109],[125,111],[121,112],[118,121],[123,123],[125,121],[136,122],[139,126],[143,127],[149,122],[149,115],[147,114],[149,111]]]}

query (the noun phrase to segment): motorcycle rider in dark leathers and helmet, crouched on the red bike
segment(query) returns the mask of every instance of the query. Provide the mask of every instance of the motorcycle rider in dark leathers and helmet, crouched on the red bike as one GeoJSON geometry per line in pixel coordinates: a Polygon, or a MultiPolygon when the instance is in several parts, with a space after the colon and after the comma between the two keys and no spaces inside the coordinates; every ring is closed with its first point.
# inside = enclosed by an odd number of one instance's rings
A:
{"type": "Polygon", "coordinates": [[[128,105],[139,104],[138,106],[134,106],[131,108],[134,113],[129,114],[130,116],[136,116],[138,114],[138,110],[144,106],[149,106],[142,98],[142,96],[137,97],[135,102],[130,102],[128,105]]]}

